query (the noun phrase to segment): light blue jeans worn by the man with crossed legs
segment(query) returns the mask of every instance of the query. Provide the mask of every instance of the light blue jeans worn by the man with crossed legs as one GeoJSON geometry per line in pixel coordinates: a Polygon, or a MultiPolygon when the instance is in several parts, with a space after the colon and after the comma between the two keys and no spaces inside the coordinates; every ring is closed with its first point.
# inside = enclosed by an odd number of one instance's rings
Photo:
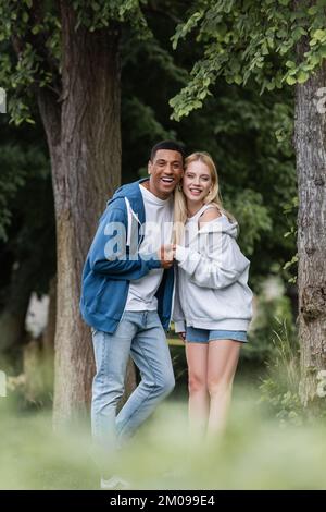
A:
{"type": "Polygon", "coordinates": [[[174,388],[165,332],[156,312],[125,312],[113,334],[92,330],[97,374],[92,383],[91,427],[99,446],[110,452],[133,436],[174,388]],[[141,381],[118,415],[131,356],[141,381]]]}

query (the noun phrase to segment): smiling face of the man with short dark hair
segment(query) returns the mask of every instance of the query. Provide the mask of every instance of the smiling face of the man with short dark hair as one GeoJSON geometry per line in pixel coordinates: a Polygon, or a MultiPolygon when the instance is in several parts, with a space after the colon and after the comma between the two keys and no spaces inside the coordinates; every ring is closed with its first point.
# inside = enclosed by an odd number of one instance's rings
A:
{"type": "Polygon", "coordinates": [[[160,199],[167,199],[184,173],[183,156],[179,151],[158,149],[153,161],[148,163],[149,190],[160,199]]]}

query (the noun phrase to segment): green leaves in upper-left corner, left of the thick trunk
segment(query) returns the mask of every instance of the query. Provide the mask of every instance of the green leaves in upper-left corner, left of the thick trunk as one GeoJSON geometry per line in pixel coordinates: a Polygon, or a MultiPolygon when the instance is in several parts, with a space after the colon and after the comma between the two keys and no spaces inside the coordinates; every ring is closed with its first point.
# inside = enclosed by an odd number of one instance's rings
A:
{"type": "Polygon", "coordinates": [[[0,34],[0,83],[8,92],[11,122],[34,123],[30,105],[37,87],[60,93],[61,25],[55,3],[36,10],[32,1],[3,0],[0,34]]]}

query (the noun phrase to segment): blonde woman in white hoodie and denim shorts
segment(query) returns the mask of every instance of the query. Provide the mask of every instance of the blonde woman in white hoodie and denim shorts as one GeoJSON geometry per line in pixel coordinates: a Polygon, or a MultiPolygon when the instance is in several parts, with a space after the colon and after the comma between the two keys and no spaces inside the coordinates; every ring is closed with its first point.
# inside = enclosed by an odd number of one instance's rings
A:
{"type": "Polygon", "coordinates": [[[185,162],[175,191],[173,319],[185,341],[189,419],[197,434],[224,430],[239,352],[251,319],[250,261],[236,242],[238,224],[222,205],[215,164],[205,153],[185,162]]]}

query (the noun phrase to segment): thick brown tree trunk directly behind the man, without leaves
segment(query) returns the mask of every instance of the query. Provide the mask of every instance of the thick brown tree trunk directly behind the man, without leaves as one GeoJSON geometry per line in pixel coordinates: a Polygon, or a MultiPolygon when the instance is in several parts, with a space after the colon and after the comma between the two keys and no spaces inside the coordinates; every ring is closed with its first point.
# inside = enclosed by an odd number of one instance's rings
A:
{"type": "Polygon", "coordinates": [[[62,105],[41,90],[57,219],[58,303],[53,425],[83,415],[90,401],[93,356],[79,314],[80,278],[98,218],[120,183],[118,34],[88,32],[62,0],[62,105]]]}

